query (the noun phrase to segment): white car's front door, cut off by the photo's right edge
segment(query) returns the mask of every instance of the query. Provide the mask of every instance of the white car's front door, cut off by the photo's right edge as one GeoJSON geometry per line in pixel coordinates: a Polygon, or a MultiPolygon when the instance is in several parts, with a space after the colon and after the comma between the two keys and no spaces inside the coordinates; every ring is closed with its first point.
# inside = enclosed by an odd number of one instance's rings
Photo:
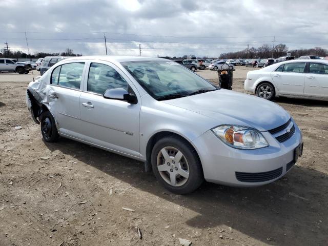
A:
{"type": "Polygon", "coordinates": [[[305,74],[305,96],[328,98],[328,65],[310,63],[305,74]]]}

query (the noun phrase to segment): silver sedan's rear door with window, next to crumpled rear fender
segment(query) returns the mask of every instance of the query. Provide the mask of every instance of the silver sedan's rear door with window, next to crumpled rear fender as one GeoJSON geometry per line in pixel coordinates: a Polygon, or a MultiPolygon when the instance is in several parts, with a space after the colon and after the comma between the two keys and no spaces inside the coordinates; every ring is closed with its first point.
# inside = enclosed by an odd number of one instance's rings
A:
{"type": "Polygon", "coordinates": [[[79,97],[85,63],[67,63],[56,67],[51,74],[48,100],[58,132],[83,139],[80,124],[79,97]]]}

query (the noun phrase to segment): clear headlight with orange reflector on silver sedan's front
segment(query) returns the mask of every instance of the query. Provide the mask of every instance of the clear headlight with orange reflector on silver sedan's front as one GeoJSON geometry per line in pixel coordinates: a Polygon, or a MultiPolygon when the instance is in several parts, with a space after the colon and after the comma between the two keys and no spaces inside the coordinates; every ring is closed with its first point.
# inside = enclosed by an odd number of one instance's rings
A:
{"type": "Polygon", "coordinates": [[[259,131],[248,127],[222,125],[213,128],[212,132],[227,145],[236,149],[254,150],[269,146],[268,141],[259,131]]]}

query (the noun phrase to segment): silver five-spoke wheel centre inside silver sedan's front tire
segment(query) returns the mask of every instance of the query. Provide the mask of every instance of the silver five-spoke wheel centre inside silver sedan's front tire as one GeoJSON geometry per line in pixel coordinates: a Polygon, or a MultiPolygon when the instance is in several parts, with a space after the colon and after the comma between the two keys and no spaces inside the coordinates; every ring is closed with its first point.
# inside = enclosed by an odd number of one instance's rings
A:
{"type": "Polygon", "coordinates": [[[162,179],[171,186],[183,186],[188,181],[187,158],[174,147],[164,147],[158,152],[157,168],[162,179]]]}

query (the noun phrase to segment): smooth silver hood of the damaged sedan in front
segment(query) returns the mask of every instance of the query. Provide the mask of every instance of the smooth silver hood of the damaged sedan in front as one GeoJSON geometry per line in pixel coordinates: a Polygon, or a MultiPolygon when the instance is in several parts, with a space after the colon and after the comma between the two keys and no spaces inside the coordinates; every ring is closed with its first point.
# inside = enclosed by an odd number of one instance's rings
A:
{"type": "Polygon", "coordinates": [[[259,131],[279,127],[291,117],[271,101],[224,89],[162,102],[213,118],[217,126],[235,124],[259,131]]]}

